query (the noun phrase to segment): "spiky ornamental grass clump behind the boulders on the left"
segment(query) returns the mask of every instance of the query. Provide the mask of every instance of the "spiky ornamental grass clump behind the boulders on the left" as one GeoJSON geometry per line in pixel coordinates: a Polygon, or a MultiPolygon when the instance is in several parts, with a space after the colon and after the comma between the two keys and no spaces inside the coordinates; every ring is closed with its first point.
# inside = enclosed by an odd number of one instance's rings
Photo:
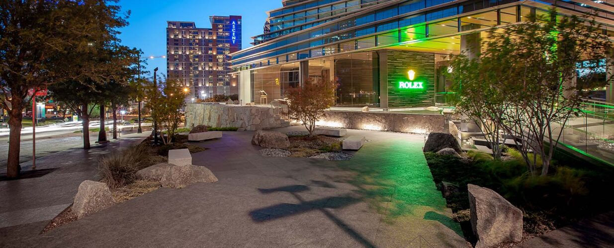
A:
{"type": "Polygon", "coordinates": [[[145,145],[131,146],[122,152],[104,156],[98,162],[98,175],[111,189],[126,186],[136,179],[136,171],[147,167],[149,154],[145,145]]]}

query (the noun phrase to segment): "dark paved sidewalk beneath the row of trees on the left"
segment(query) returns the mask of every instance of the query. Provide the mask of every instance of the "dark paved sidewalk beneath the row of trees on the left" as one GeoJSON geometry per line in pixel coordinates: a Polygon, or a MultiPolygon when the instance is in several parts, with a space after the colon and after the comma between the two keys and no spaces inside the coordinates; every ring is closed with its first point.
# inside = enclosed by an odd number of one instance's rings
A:
{"type": "MultiPolygon", "coordinates": [[[[0,228],[33,222],[46,224],[72,203],[82,181],[96,179],[99,156],[133,145],[144,137],[146,133],[133,133],[105,145],[92,142],[88,151],[72,148],[56,152],[36,160],[37,170],[53,170],[48,175],[0,181],[0,228]]],[[[31,161],[21,163],[22,170],[30,170],[31,165],[31,161]]],[[[0,233],[0,239],[2,236],[0,233]]]]}

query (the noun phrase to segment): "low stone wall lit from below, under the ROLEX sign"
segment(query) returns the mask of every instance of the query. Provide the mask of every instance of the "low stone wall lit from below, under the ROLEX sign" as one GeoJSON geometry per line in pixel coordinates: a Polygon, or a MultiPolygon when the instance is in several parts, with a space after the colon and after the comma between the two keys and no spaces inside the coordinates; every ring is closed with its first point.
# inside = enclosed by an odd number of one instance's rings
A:
{"type": "Polygon", "coordinates": [[[443,115],[327,111],[317,126],[407,133],[448,132],[443,115]]]}

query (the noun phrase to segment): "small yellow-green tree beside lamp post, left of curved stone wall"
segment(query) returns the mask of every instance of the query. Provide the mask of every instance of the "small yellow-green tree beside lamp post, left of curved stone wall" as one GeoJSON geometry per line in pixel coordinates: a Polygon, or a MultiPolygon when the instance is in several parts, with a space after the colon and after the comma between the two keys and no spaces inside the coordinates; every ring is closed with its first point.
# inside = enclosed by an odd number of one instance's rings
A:
{"type": "Polygon", "coordinates": [[[176,80],[166,80],[162,91],[150,83],[147,86],[147,107],[150,108],[152,118],[160,125],[160,130],[165,130],[166,138],[161,135],[162,142],[169,144],[179,127],[183,113],[181,108],[185,105],[185,92],[176,80]]]}

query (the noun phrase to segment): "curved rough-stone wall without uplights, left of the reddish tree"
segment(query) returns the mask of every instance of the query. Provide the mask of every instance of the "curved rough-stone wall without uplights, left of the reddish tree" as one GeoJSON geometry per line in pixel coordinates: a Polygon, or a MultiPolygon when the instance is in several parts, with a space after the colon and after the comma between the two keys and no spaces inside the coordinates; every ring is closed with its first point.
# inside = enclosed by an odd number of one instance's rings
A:
{"type": "Polygon", "coordinates": [[[279,116],[280,111],[281,108],[271,107],[187,103],[185,127],[206,125],[260,130],[289,126],[289,122],[279,116]]]}

